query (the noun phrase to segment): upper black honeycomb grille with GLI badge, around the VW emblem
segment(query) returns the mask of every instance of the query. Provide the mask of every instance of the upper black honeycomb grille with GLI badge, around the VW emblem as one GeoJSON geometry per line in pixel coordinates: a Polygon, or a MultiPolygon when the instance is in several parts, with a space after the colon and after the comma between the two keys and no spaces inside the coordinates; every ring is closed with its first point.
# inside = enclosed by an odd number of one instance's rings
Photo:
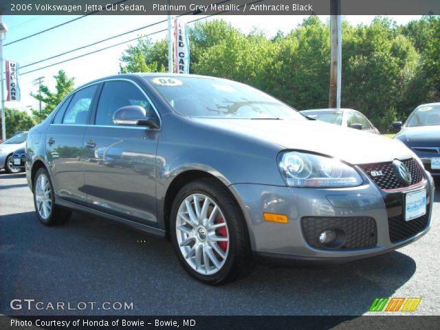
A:
{"type": "Polygon", "coordinates": [[[423,175],[421,174],[421,170],[417,165],[415,159],[405,159],[402,162],[406,165],[408,170],[410,170],[410,184],[404,184],[399,179],[397,179],[397,176],[394,173],[392,162],[364,164],[360,165],[359,167],[365,171],[366,175],[368,175],[375,182],[375,184],[379,186],[379,188],[384,190],[404,188],[421,182],[421,180],[423,179],[423,175]],[[372,171],[381,171],[383,175],[373,177],[373,175],[371,175],[372,171]]]}

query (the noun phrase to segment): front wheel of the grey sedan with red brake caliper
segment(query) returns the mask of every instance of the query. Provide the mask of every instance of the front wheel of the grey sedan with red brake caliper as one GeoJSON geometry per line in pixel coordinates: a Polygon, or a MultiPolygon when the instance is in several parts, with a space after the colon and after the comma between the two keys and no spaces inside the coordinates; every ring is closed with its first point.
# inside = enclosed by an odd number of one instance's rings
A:
{"type": "Polygon", "coordinates": [[[177,193],[170,217],[173,247],[192,277],[219,285],[248,274],[248,230],[228,188],[214,179],[192,181],[177,193]]]}

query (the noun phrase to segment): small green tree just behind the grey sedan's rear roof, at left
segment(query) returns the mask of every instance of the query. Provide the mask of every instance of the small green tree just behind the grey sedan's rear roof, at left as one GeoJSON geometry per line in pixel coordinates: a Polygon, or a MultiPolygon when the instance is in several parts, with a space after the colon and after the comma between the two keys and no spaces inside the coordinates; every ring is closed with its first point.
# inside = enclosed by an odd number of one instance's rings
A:
{"type": "Polygon", "coordinates": [[[48,115],[56,108],[56,106],[69,94],[74,90],[75,78],[67,77],[64,70],[58,71],[58,74],[54,76],[56,80],[55,92],[50,91],[50,89],[46,85],[41,85],[41,93],[30,95],[36,100],[43,102],[44,108],[41,109],[41,113],[38,110],[32,109],[32,113],[36,118],[40,120],[44,120],[48,115]]]}

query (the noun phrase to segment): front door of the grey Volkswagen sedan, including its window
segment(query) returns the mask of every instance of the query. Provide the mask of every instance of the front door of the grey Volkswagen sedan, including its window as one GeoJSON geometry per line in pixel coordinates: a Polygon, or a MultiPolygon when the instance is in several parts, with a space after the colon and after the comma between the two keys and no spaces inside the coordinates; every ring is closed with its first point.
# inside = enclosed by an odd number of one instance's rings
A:
{"type": "Polygon", "coordinates": [[[148,96],[131,80],[104,82],[94,125],[85,133],[87,206],[155,225],[155,159],[159,129],[115,125],[113,113],[129,105],[140,105],[148,116],[157,116],[148,96]]]}

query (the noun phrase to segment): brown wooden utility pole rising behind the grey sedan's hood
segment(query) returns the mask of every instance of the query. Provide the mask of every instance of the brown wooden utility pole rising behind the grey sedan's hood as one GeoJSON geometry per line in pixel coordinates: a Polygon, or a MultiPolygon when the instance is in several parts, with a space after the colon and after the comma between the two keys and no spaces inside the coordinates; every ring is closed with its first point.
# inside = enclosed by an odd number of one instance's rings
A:
{"type": "Polygon", "coordinates": [[[340,108],[341,88],[341,3],[340,0],[330,1],[331,60],[329,108],[340,108]]]}

